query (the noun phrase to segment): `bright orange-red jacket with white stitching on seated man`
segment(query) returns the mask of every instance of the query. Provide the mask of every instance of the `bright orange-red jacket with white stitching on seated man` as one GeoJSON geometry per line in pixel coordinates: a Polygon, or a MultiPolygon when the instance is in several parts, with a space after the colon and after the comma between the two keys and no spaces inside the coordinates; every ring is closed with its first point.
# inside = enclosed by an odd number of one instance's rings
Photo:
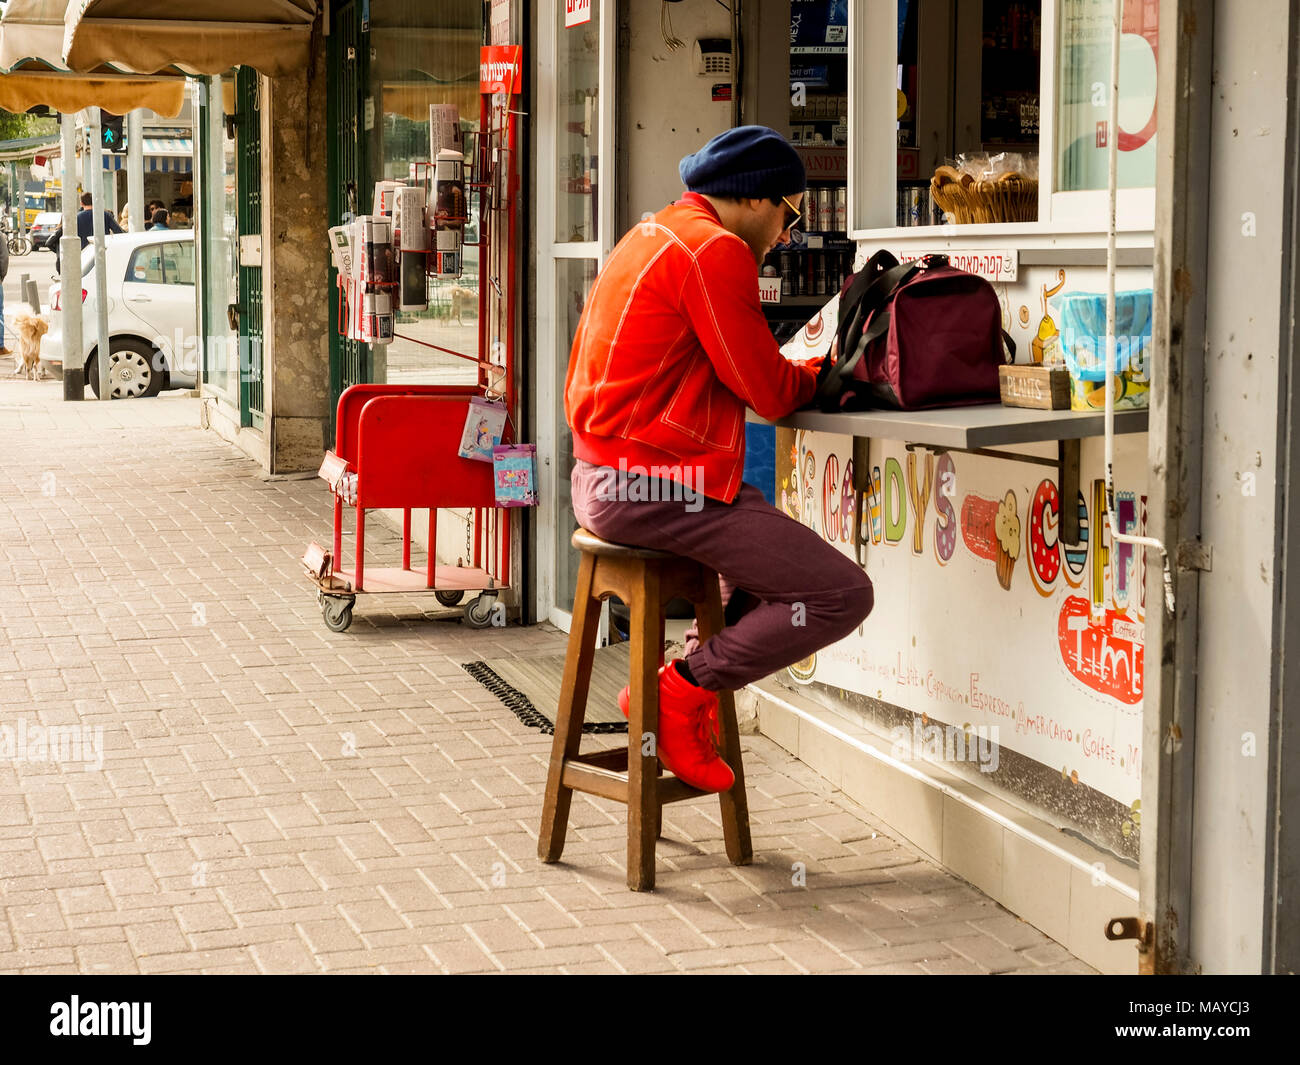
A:
{"type": "Polygon", "coordinates": [[[686,192],[610,252],[573,337],[564,412],[576,458],[644,467],[729,503],[745,407],[780,417],[815,384],[815,368],[786,360],[772,337],[749,246],[686,192]]]}

